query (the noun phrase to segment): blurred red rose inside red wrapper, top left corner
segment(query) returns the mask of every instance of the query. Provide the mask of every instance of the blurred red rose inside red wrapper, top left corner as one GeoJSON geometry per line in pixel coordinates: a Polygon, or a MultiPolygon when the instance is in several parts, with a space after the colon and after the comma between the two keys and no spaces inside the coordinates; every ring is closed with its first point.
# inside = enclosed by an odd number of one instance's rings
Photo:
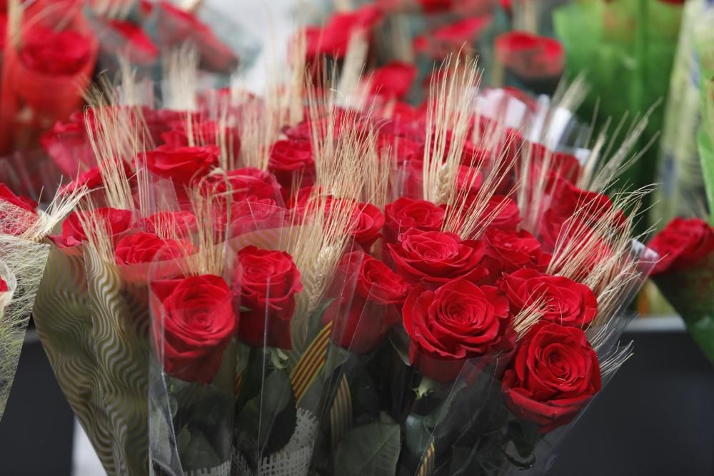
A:
{"type": "Polygon", "coordinates": [[[53,76],[76,74],[92,58],[91,41],[72,30],[34,26],[24,35],[20,60],[26,68],[53,76]]]}

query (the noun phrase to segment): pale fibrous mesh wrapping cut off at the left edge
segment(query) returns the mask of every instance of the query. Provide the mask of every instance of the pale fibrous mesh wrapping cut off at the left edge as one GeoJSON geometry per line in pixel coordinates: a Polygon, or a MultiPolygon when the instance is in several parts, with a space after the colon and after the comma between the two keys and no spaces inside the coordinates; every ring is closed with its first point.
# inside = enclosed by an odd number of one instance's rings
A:
{"type": "Polygon", "coordinates": [[[42,243],[0,236],[0,278],[8,287],[0,293],[0,419],[12,388],[48,250],[49,246],[42,243]]]}

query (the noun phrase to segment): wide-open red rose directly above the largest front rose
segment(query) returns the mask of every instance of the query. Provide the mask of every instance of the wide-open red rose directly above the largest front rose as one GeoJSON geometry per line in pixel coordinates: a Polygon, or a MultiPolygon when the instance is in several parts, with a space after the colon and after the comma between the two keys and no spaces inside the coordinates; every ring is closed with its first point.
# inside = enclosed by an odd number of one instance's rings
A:
{"type": "Polygon", "coordinates": [[[454,233],[411,228],[388,246],[397,273],[411,283],[433,288],[456,278],[476,282],[488,275],[481,265],[483,244],[454,233]]]}

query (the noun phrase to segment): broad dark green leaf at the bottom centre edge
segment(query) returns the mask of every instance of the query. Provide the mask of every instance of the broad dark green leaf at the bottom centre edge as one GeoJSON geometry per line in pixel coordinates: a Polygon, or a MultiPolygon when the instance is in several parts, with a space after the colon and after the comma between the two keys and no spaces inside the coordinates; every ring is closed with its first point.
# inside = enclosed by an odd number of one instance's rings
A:
{"type": "Polygon", "coordinates": [[[335,476],[394,476],[401,432],[399,425],[370,423],[356,427],[335,452],[335,476]]]}

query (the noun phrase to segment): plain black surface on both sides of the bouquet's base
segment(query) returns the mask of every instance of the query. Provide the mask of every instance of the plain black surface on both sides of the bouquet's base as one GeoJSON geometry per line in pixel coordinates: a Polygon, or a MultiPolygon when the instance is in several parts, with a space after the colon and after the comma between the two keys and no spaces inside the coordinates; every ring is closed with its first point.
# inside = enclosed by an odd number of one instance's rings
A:
{"type": "MultiPolygon", "coordinates": [[[[558,445],[547,475],[714,475],[714,367],[683,330],[630,339],[635,355],[558,445]]],[[[0,422],[0,475],[69,476],[73,425],[31,330],[0,422]]]]}

